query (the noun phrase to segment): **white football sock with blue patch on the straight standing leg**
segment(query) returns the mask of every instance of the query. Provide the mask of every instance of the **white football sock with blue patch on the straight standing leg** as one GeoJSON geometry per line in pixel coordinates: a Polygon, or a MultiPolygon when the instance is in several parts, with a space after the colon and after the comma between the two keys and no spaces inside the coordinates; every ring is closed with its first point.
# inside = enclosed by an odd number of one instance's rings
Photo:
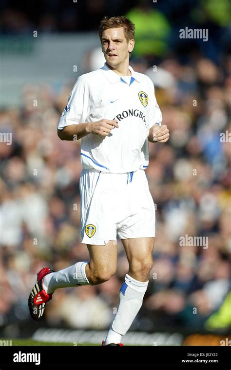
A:
{"type": "Polygon", "coordinates": [[[126,274],[125,281],[119,291],[117,313],[109,329],[105,345],[121,343],[122,335],[126,334],[142,306],[147,287],[148,281],[141,282],[126,274]]]}

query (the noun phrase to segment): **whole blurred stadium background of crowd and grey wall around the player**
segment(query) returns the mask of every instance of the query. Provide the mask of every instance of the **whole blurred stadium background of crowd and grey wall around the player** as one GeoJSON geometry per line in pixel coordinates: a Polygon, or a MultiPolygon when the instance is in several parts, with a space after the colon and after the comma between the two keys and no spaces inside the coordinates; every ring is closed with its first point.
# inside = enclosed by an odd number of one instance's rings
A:
{"type": "Polygon", "coordinates": [[[40,268],[88,260],[80,235],[81,143],[60,141],[56,131],[77,77],[104,64],[97,35],[104,15],[135,23],[130,65],[154,82],[171,134],[167,144],[149,144],[154,267],[130,331],[179,333],[178,344],[196,345],[193,334],[231,333],[230,14],[229,0],[1,0],[1,336],[107,330],[115,315],[128,271],[119,240],[110,281],[56,290],[42,323],[27,308],[40,268]],[[180,39],[186,27],[207,29],[208,41],[180,39]],[[186,235],[208,237],[208,247],[181,246],[186,235]]]}

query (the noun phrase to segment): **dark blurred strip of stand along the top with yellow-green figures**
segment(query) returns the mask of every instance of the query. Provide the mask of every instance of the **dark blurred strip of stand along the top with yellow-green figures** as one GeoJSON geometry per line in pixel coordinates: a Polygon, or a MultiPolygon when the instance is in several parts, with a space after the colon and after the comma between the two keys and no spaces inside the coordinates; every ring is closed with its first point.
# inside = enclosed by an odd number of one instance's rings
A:
{"type": "Polygon", "coordinates": [[[96,31],[103,16],[126,15],[136,28],[133,55],[156,59],[174,49],[185,58],[198,47],[218,62],[221,49],[230,50],[230,14],[229,0],[1,0],[0,36],[96,31]],[[209,42],[179,40],[186,26],[209,29],[209,42]]]}

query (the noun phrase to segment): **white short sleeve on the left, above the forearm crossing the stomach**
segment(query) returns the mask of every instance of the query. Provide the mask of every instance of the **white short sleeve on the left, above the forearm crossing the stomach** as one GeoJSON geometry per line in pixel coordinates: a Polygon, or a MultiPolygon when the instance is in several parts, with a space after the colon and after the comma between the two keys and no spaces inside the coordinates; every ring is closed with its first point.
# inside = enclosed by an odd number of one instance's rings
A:
{"type": "Polygon", "coordinates": [[[85,123],[89,115],[89,84],[81,76],[68,98],[68,103],[63,110],[58,122],[58,129],[62,130],[71,124],[85,123]]]}

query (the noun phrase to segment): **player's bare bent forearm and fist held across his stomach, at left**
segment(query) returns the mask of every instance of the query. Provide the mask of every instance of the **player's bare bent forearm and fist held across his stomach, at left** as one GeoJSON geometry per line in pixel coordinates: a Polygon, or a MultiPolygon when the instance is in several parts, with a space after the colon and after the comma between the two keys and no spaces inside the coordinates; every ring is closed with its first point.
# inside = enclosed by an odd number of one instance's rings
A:
{"type": "Polygon", "coordinates": [[[118,128],[117,120],[100,120],[96,122],[71,124],[62,130],[57,130],[58,137],[61,140],[78,140],[88,134],[96,136],[109,136],[113,128],[118,128]]]}

